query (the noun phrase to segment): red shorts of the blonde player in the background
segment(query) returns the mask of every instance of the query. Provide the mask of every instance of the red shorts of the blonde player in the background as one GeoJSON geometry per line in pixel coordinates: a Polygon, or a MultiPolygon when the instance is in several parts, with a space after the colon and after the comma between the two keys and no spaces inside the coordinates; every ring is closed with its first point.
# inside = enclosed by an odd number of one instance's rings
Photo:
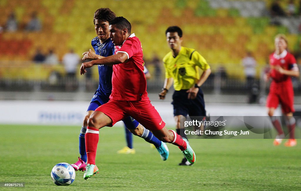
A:
{"type": "Polygon", "coordinates": [[[281,104],[283,113],[295,112],[294,109],[294,91],[293,85],[290,82],[286,83],[273,83],[270,87],[270,93],[266,101],[268,108],[277,108],[281,104]]]}

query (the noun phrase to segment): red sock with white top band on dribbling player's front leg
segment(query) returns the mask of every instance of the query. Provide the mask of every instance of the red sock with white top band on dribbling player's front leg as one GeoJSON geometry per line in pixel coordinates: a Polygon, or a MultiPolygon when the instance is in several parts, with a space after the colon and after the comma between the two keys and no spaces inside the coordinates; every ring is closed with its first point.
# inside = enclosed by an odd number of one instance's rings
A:
{"type": "Polygon", "coordinates": [[[95,129],[94,127],[87,127],[87,131],[85,134],[87,164],[95,165],[98,140],[99,140],[99,130],[95,129]]]}

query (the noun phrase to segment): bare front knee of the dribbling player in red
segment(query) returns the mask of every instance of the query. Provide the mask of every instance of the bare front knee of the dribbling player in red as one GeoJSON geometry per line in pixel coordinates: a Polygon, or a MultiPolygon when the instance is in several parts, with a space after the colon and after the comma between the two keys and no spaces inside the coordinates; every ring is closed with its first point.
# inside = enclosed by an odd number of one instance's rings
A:
{"type": "Polygon", "coordinates": [[[88,119],[88,127],[94,127],[100,129],[102,127],[112,124],[112,119],[100,111],[94,111],[88,119]]]}

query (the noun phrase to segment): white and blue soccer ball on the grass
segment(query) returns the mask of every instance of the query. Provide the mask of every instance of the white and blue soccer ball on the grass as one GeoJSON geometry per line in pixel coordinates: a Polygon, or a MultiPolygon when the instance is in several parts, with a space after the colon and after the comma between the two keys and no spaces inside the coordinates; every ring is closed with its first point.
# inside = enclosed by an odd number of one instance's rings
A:
{"type": "Polygon", "coordinates": [[[50,175],[57,186],[68,186],[75,179],[75,170],[68,163],[58,163],[52,168],[50,175]]]}

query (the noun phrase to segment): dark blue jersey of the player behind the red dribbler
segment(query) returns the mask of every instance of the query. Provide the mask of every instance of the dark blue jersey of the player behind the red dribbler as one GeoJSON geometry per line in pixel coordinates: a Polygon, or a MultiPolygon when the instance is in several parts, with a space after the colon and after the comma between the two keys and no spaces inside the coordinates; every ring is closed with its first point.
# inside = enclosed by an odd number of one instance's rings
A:
{"type": "MultiPolygon", "coordinates": [[[[108,38],[104,43],[100,43],[98,37],[95,37],[91,41],[92,47],[95,50],[95,53],[104,57],[108,57],[114,54],[115,47],[111,41],[111,38],[108,38]]],[[[112,73],[113,67],[106,65],[98,65],[98,74],[99,74],[99,84],[97,88],[97,93],[101,94],[104,97],[109,98],[112,92],[112,73]]]]}

